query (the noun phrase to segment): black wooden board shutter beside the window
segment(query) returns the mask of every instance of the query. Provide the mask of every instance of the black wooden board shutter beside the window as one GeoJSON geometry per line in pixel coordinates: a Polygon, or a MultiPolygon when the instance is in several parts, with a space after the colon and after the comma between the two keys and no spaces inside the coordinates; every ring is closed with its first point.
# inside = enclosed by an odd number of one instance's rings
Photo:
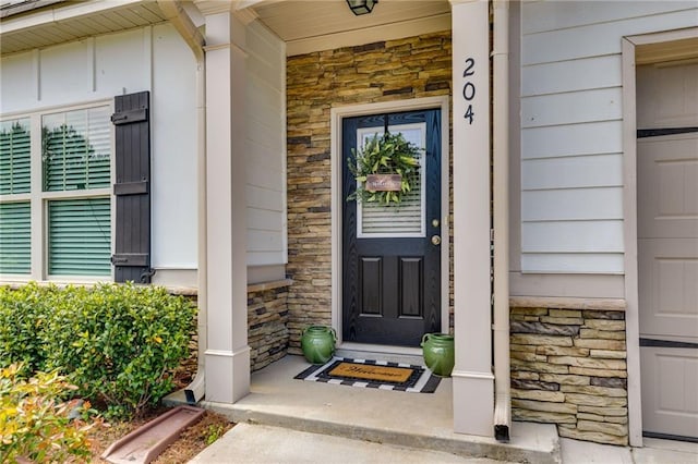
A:
{"type": "Polygon", "coordinates": [[[148,91],[115,97],[117,224],[115,281],[151,283],[151,123],[148,91]]]}

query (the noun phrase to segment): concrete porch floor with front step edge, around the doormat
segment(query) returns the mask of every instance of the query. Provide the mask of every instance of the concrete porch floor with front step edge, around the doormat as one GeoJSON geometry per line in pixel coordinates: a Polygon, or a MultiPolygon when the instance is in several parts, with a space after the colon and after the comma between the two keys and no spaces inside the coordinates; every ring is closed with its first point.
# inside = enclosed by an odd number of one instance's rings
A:
{"type": "Polygon", "coordinates": [[[236,404],[202,402],[238,424],[281,427],[464,457],[558,463],[554,425],[514,423],[509,443],[454,434],[452,380],[435,393],[406,393],[293,379],[310,364],[289,355],[252,375],[251,393],[236,404]]]}

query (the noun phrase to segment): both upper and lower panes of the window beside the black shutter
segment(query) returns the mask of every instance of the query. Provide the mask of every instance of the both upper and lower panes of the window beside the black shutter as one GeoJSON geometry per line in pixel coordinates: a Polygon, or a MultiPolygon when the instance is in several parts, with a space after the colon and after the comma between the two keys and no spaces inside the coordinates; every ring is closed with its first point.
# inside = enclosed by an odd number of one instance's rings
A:
{"type": "Polygon", "coordinates": [[[85,195],[47,203],[49,276],[111,273],[111,200],[89,192],[111,185],[110,112],[105,106],[41,117],[44,192],[85,195]]]}

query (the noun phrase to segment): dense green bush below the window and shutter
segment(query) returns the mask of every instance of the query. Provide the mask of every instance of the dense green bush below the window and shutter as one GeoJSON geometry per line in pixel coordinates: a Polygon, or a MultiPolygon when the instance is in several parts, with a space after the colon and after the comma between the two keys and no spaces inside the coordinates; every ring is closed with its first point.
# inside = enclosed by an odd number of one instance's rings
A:
{"type": "Polygon", "coordinates": [[[125,418],[173,389],[194,316],[190,302],[158,286],[0,288],[0,367],[57,370],[74,396],[125,418]]]}

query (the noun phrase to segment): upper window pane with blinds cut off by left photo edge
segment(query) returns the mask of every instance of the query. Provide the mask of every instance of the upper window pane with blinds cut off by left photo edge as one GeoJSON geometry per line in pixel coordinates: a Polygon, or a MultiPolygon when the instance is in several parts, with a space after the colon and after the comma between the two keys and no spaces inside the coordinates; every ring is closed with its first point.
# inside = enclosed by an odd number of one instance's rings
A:
{"type": "Polygon", "coordinates": [[[28,193],[32,184],[29,120],[0,123],[0,195],[28,193]]]}

